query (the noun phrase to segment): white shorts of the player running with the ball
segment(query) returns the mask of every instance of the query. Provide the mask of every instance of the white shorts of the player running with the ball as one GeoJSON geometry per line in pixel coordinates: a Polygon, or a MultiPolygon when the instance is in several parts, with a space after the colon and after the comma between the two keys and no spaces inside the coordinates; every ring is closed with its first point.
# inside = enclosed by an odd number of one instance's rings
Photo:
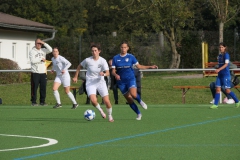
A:
{"type": "Polygon", "coordinates": [[[92,94],[96,95],[97,91],[101,97],[105,97],[108,95],[108,89],[107,89],[105,80],[98,81],[97,83],[93,82],[93,83],[86,84],[86,90],[87,90],[88,97],[92,94]]]}

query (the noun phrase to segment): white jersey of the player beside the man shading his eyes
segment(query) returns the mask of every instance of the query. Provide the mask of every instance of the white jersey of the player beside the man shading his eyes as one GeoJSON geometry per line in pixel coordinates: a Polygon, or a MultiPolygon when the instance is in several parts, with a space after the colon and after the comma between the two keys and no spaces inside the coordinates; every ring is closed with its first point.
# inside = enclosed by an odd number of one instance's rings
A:
{"type": "Polygon", "coordinates": [[[52,57],[53,70],[56,71],[58,76],[62,75],[62,71],[64,70],[64,74],[69,74],[68,68],[72,65],[66,58],[58,55],[57,58],[52,57]]]}

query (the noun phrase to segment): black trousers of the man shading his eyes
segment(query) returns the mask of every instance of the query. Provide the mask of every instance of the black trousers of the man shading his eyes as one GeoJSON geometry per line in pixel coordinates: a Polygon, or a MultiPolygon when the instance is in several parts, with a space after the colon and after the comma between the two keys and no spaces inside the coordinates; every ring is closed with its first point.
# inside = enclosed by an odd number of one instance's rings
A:
{"type": "Polygon", "coordinates": [[[45,102],[46,91],[47,91],[47,75],[46,73],[31,73],[31,101],[36,103],[37,101],[37,90],[40,85],[40,103],[45,102]]]}

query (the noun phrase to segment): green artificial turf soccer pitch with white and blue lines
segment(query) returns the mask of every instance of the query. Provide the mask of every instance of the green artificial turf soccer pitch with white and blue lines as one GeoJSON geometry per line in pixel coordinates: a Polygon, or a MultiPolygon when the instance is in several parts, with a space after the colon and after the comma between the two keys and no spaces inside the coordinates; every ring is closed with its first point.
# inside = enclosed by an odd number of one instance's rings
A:
{"type": "Polygon", "coordinates": [[[240,108],[208,107],[148,105],[137,121],[128,105],[114,105],[110,123],[90,105],[1,105],[0,159],[240,159],[240,108]],[[95,110],[95,120],[84,120],[86,109],[95,110]]]}

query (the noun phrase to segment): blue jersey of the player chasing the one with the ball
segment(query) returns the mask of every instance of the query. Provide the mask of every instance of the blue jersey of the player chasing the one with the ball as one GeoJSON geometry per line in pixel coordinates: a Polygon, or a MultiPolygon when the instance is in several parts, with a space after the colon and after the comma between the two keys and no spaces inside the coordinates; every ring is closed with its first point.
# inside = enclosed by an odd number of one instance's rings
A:
{"type": "MultiPolygon", "coordinates": [[[[112,68],[116,69],[116,73],[120,76],[120,81],[126,83],[129,80],[135,80],[132,66],[137,63],[137,59],[132,54],[127,53],[123,57],[118,54],[113,57],[112,68]]],[[[119,83],[119,81],[117,82],[119,83]]]]}

